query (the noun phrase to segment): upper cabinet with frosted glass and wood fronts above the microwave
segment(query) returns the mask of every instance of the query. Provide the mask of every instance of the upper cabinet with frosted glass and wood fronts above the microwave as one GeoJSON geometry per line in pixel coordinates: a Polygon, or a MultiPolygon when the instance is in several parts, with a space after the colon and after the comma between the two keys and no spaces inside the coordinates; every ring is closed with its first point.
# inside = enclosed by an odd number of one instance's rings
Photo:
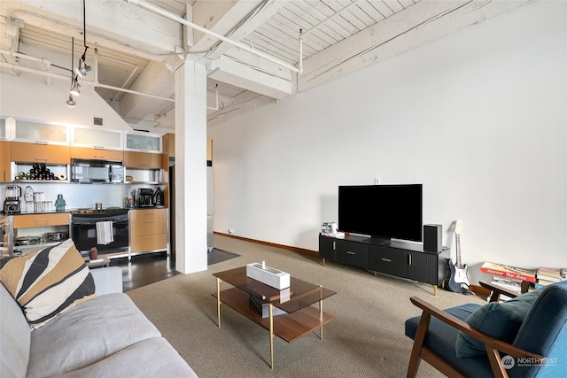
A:
{"type": "Polygon", "coordinates": [[[74,127],[71,158],[123,161],[121,131],[74,127]]]}

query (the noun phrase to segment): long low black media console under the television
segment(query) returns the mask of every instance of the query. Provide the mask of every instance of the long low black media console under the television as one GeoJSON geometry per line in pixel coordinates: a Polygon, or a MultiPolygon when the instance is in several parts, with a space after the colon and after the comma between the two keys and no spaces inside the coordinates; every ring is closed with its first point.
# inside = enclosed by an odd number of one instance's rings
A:
{"type": "Polygon", "coordinates": [[[423,251],[423,245],[392,241],[372,243],[368,236],[350,235],[344,239],[319,235],[319,256],[349,266],[390,274],[437,287],[449,277],[449,249],[438,253],[423,251]]]}

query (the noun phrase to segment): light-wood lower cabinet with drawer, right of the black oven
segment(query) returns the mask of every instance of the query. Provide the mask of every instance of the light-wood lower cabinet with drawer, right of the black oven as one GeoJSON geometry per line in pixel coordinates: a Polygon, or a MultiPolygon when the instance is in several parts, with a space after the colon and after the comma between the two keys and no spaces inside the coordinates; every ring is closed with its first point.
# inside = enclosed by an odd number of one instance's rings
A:
{"type": "Polygon", "coordinates": [[[167,209],[130,211],[131,254],[167,251],[167,209]]]}

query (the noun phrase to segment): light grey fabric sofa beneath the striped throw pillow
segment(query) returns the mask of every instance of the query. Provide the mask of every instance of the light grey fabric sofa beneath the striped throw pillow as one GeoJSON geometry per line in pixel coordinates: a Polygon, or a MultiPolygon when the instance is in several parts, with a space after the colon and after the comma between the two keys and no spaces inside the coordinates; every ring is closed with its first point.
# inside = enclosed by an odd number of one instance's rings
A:
{"type": "MultiPolygon", "coordinates": [[[[37,260],[40,258],[35,257],[37,260]]],[[[28,260],[21,266],[33,264],[28,260]]],[[[46,263],[45,266],[50,265],[46,263]]],[[[0,375],[197,377],[151,321],[122,293],[119,267],[89,269],[83,263],[74,272],[84,268],[87,271],[76,281],[94,286],[95,292],[87,292],[88,296],[77,301],[74,297],[77,297],[78,289],[72,289],[73,294],[69,297],[76,303],[58,311],[39,326],[30,320],[33,318],[29,314],[32,306],[22,307],[14,299],[13,292],[6,289],[5,282],[10,282],[18,269],[9,264],[0,269],[0,281],[3,282],[0,285],[0,375]]],[[[54,269],[50,267],[48,270],[54,269]]],[[[44,277],[47,274],[38,275],[44,277]]],[[[68,279],[69,274],[65,275],[68,279]]],[[[50,288],[54,286],[57,285],[49,284],[50,288]]]]}

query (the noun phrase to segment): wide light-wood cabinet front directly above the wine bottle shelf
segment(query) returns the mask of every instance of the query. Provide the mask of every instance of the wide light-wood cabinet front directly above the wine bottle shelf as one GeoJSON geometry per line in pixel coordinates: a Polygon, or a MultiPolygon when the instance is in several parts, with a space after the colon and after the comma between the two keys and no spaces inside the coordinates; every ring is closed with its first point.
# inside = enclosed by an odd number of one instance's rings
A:
{"type": "Polygon", "coordinates": [[[69,145],[12,141],[11,157],[16,163],[69,164],[71,150],[69,145]]]}

